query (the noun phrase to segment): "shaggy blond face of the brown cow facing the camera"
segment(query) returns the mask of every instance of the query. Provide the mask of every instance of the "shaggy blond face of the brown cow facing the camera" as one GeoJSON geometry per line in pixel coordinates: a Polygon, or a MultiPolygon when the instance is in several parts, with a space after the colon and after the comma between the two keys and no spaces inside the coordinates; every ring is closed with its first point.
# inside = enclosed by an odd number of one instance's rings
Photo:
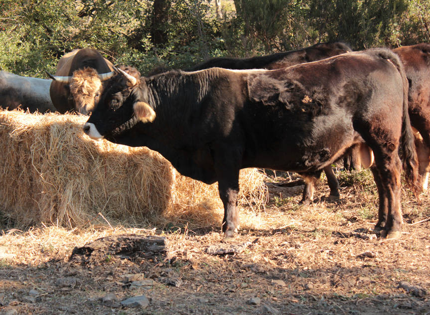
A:
{"type": "Polygon", "coordinates": [[[99,74],[93,68],[74,71],[70,81],[70,97],[75,102],[76,111],[84,115],[91,112],[99,101],[102,88],[99,74]]]}

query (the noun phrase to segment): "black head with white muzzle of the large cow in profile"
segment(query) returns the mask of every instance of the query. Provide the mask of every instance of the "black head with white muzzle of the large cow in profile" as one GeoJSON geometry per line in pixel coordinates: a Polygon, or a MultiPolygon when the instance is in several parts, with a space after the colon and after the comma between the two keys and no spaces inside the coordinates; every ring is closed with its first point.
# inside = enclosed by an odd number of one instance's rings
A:
{"type": "Polygon", "coordinates": [[[134,68],[117,69],[118,75],[106,82],[100,100],[84,125],[84,132],[93,139],[107,138],[113,142],[138,122],[155,119],[149,105],[148,88],[134,68]]]}

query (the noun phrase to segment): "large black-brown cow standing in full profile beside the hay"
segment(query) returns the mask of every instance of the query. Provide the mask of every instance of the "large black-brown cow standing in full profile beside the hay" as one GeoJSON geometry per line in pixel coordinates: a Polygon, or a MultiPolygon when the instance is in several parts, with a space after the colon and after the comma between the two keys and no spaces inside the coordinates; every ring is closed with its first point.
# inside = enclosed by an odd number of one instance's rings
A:
{"type": "Polygon", "coordinates": [[[239,226],[239,170],[294,171],[306,180],[362,138],[375,154],[378,226],[401,234],[401,143],[407,182],[417,189],[408,85],[396,54],[351,52],[279,70],[170,71],[109,81],[84,131],[160,152],[183,175],[218,181],[222,230],[239,226]]]}

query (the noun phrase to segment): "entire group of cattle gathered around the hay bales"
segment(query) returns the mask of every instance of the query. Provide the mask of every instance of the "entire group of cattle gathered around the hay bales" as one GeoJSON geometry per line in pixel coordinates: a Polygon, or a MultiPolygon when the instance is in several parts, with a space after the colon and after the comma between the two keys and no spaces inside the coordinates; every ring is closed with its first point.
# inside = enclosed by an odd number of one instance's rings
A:
{"type": "Polygon", "coordinates": [[[402,170],[416,195],[428,186],[429,70],[424,43],[355,52],[320,43],[147,77],[84,48],[65,54],[52,80],[1,71],[0,106],[90,114],[83,129],[91,138],[147,146],[181,174],[218,182],[226,237],[239,228],[240,169],[297,172],[307,204],[322,170],[339,196],[331,165],[348,152],[372,170],[376,228],[398,238],[402,170]]]}

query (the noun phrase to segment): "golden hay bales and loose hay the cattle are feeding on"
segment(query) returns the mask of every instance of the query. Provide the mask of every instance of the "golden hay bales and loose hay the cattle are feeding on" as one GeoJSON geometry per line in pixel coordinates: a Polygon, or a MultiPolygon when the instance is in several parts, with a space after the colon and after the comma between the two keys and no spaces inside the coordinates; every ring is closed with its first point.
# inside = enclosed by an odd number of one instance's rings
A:
{"type": "MultiPolygon", "coordinates": [[[[85,227],[173,220],[221,225],[217,184],[181,176],[159,153],[94,141],[82,115],[0,111],[0,212],[18,224],[85,227]]],[[[240,174],[239,205],[261,207],[265,175],[240,174]]]]}

